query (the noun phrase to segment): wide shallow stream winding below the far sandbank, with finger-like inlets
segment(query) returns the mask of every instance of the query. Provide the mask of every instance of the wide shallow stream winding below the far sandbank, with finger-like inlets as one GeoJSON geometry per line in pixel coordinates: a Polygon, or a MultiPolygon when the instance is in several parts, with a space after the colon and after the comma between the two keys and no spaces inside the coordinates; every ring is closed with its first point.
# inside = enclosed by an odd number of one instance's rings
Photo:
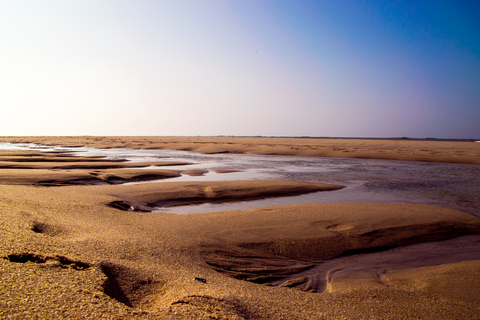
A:
{"type": "Polygon", "coordinates": [[[245,210],[271,205],[315,202],[396,202],[440,205],[480,215],[480,166],[398,160],[332,158],[258,154],[198,154],[176,150],[38,148],[33,144],[0,143],[0,149],[32,151],[74,150],[78,155],[106,155],[132,162],[193,162],[186,166],[146,167],[142,169],[206,169],[204,176],[151,180],[215,181],[278,179],[333,183],[347,186],[336,191],[314,192],[298,196],[273,197],[250,201],[213,201],[200,204],[158,208],[156,212],[200,213],[245,210]],[[216,173],[212,170],[236,169],[243,172],[216,173]]]}

